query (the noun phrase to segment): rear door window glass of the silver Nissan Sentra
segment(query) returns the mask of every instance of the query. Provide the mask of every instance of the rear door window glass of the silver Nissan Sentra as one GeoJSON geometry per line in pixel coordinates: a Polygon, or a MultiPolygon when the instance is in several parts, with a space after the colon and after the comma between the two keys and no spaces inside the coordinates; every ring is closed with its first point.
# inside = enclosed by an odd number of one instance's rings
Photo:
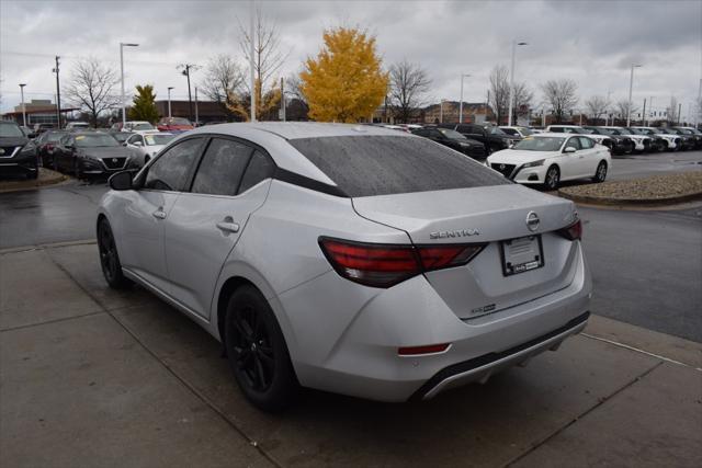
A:
{"type": "Polygon", "coordinates": [[[191,192],[236,195],[252,150],[238,141],[214,138],[200,163],[191,192]]]}

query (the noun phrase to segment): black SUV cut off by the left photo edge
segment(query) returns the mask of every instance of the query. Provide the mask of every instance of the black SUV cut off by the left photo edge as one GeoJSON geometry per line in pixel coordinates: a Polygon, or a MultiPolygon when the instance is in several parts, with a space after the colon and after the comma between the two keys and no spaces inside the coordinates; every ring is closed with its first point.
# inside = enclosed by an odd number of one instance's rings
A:
{"type": "Polygon", "coordinates": [[[27,179],[39,174],[36,145],[14,122],[0,122],[0,175],[24,173],[27,179]]]}

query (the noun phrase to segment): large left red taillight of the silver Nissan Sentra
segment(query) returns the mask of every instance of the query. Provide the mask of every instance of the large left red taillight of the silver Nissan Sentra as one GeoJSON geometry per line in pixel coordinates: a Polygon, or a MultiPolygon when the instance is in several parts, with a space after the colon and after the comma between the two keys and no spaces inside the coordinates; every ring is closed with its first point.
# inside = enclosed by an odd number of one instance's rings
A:
{"type": "Polygon", "coordinates": [[[422,272],[465,264],[485,247],[415,247],[330,238],[320,238],[319,244],[337,273],[352,282],[374,287],[390,287],[422,272]]]}

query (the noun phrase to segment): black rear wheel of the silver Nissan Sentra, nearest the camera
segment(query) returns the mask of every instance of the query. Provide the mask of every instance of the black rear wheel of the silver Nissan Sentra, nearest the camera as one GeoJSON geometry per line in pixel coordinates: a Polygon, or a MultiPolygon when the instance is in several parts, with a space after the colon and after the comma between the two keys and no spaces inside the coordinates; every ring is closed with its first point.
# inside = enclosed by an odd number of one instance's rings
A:
{"type": "Polygon", "coordinates": [[[275,315],[253,286],[239,287],[229,298],[225,347],[234,378],[257,408],[282,411],[293,401],[297,378],[275,315]]]}

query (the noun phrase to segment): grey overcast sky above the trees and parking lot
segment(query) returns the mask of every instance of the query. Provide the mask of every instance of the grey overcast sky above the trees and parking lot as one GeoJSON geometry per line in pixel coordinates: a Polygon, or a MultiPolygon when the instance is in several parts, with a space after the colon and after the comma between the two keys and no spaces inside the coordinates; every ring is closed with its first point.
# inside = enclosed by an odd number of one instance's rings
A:
{"type": "MultiPolygon", "coordinates": [[[[275,21],[290,55],[284,76],[316,55],[321,33],[338,25],[361,26],[377,38],[385,66],[407,58],[421,64],[433,80],[434,100],[485,101],[488,75],[509,66],[511,41],[519,47],[516,80],[525,81],[541,100],[539,84],[570,78],[580,102],[590,95],[626,99],[631,64],[635,105],[654,98],[665,109],[670,96],[682,114],[698,95],[702,78],[702,0],[639,1],[261,1],[275,21]]],[[[152,83],[157,99],[186,99],[180,62],[205,65],[219,53],[246,66],[238,46],[238,22],[248,21],[249,1],[9,1],[0,0],[0,90],[5,112],[20,102],[18,83],[27,83],[25,100],[54,99],[54,56],[61,59],[61,80],[80,57],[95,56],[118,70],[120,42],[125,49],[127,90],[152,83]]],[[[202,72],[200,73],[202,76],[202,72]]],[[[197,72],[193,81],[199,81],[197,72]]],[[[118,92],[118,87],[115,90],[118,92]]]]}

